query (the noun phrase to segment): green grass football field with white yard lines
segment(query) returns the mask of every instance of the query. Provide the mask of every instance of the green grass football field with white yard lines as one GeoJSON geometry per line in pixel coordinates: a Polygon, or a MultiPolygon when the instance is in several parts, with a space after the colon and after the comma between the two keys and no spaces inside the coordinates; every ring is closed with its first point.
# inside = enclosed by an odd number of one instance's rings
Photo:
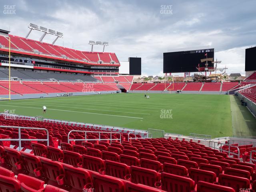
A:
{"type": "Polygon", "coordinates": [[[144,94],[122,93],[0,101],[0,111],[184,135],[207,134],[212,138],[233,133],[256,136],[252,129],[255,118],[238,105],[239,101],[228,95],[150,94],[150,99],[145,99],[144,94]],[[44,105],[46,114],[42,113],[44,105]],[[245,128],[240,127],[240,121],[245,128]]]}

